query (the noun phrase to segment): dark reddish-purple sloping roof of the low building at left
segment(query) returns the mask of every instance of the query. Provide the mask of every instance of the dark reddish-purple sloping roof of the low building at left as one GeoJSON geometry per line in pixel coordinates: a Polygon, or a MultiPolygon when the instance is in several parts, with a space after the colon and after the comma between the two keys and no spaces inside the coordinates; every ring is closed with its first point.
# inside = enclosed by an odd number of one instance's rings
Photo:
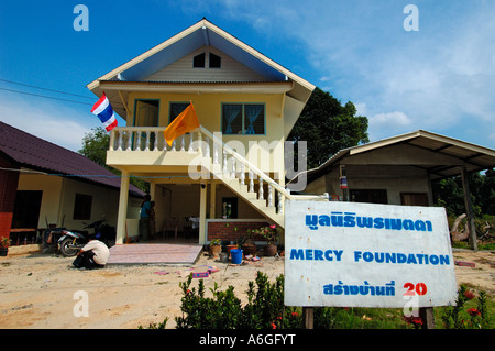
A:
{"type": "MultiPolygon", "coordinates": [[[[3,122],[0,122],[1,154],[19,166],[120,189],[120,177],[91,160],[3,122]]],[[[132,185],[130,191],[144,195],[132,185]]]]}

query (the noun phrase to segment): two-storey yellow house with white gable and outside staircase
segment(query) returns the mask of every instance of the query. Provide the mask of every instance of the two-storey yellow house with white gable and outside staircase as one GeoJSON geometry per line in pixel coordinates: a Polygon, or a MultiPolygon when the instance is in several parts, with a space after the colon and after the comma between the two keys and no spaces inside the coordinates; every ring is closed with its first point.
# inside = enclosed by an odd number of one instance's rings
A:
{"type": "Polygon", "coordinates": [[[127,120],[107,154],[122,171],[117,243],[129,234],[131,176],[151,184],[158,232],[191,224],[202,244],[250,226],[284,227],[284,200],[294,197],[284,141],[314,85],[204,19],[88,88],[127,120]],[[201,127],[168,146],[163,131],[190,101],[201,127]]]}

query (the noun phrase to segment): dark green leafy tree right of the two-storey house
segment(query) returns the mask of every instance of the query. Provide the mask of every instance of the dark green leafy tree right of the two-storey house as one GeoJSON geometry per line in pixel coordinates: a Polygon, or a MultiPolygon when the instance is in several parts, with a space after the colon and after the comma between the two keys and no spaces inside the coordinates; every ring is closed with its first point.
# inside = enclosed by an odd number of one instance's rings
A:
{"type": "Polygon", "coordinates": [[[370,141],[367,118],[355,114],[354,103],[342,106],[330,92],[316,88],[287,140],[307,141],[308,169],[318,167],[340,150],[370,141]]]}

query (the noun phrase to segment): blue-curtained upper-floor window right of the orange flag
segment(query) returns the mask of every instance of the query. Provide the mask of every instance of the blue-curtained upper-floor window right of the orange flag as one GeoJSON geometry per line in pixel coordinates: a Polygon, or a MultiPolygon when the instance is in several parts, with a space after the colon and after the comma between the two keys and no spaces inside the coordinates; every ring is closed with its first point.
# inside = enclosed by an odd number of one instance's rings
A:
{"type": "Polygon", "coordinates": [[[265,134],[265,106],[262,103],[223,103],[224,134],[265,134]]]}

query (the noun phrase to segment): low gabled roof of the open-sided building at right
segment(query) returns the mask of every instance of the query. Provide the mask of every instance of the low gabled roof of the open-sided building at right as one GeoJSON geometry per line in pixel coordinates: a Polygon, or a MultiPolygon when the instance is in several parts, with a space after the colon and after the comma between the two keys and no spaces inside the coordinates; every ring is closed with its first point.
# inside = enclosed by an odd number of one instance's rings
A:
{"type": "MultiPolygon", "coordinates": [[[[439,164],[424,166],[432,179],[457,176],[460,174],[460,165],[468,172],[480,172],[495,167],[495,150],[471,144],[453,138],[435,134],[428,131],[418,130],[411,133],[402,134],[364,145],[343,149],[317,168],[307,172],[308,180],[319,177],[339,164],[344,157],[360,153],[370,153],[382,147],[406,144],[418,150],[424,150],[433,154],[440,154],[455,158],[455,164],[439,164]]],[[[389,164],[393,164],[391,160],[389,164]]],[[[416,165],[419,166],[419,165],[416,165]]]]}

